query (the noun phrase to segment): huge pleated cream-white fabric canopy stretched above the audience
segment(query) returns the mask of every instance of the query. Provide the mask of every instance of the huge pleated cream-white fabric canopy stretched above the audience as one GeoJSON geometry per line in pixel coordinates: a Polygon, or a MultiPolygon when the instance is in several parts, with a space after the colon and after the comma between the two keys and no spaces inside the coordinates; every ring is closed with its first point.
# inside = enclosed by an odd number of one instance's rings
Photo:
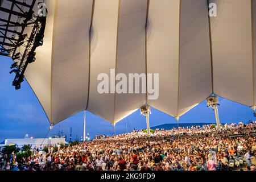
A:
{"type": "Polygon", "coordinates": [[[44,46],[26,78],[49,121],[86,109],[117,123],[144,104],[180,117],[212,93],[255,106],[256,3],[210,2],[217,17],[207,0],[46,0],[44,46]],[[113,68],[159,73],[158,100],[99,94],[98,74],[113,68]]]}

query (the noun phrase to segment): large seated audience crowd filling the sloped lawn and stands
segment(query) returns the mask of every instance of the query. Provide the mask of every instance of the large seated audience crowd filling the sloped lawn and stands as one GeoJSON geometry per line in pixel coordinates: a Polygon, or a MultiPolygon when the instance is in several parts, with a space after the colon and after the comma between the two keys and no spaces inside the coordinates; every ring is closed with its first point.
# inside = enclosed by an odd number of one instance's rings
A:
{"type": "Polygon", "coordinates": [[[255,123],[143,131],[105,137],[16,160],[1,154],[0,170],[13,171],[255,171],[255,123]],[[246,135],[230,137],[229,134],[246,135]],[[204,135],[204,137],[202,137],[204,135]],[[170,137],[170,139],[162,138],[170,137]],[[230,163],[243,160],[241,168],[230,163]]]}

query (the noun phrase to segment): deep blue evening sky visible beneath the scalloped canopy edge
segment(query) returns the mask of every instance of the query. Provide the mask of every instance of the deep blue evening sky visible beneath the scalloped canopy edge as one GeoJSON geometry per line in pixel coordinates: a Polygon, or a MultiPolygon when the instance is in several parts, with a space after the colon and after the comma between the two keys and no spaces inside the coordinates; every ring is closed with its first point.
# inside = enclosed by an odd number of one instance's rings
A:
{"type": "MultiPolygon", "coordinates": [[[[12,86],[14,75],[10,75],[10,65],[12,60],[8,57],[0,56],[0,142],[4,138],[23,138],[25,134],[30,137],[43,138],[48,130],[49,122],[44,114],[42,106],[39,104],[32,89],[26,81],[22,83],[20,90],[15,90],[12,86]]],[[[247,122],[254,119],[253,110],[247,106],[237,104],[229,100],[220,98],[221,106],[218,107],[221,122],[247,122]]],[[[150,125],[157,126],[165,123],[176,123],[170,115],[164,114],[154,108],[151,109],[150,125]]],[[[56,125],[48,135],[63,130],[63,133],[70,133],[72,127],[73,139],[82,136],[82,123],[84,113],[78,113],[71,118],[56,125]]],[[[193,122],[215,122],[214,112],[206,106],[206,101],[195,107],[183,117],[180,123],[193,122]]],[[[139,113],[139,110],[127,117],[129,129],[146,128],[146,119],[139,113]]],[[[117,123],[116,133],[126,131],[126,122],[117,123]]],[[[113,134],[113,126],[86,111],[86,133],[90,136],[95,134],[113,134]]]]}

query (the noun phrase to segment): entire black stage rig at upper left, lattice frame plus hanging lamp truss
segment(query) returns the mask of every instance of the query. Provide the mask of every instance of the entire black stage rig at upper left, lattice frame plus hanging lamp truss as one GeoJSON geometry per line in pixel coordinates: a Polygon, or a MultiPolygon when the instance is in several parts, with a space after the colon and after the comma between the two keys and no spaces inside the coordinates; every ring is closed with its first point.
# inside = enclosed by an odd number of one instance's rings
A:
{"type": "Polygon", "coordinates": [[[28,64],[36,60],[36,48],[43,46],[48,11],[45,7],[42,14],[35,15],[33,9],[37,0],[5,1],[8,3],[0,6],[0,55],[9,56],[15,61],[10,67],[13,69],[10,73],[15,73],[13,86],[18,90],[24,81],[24,73],[28,64]],[[30,25],[32,26],[31,34],[30,32],[23,34],[24,29],[30,25]],[[24,47],[22,52],[16,53],[18,47],[21,46],[24,47]]]}

